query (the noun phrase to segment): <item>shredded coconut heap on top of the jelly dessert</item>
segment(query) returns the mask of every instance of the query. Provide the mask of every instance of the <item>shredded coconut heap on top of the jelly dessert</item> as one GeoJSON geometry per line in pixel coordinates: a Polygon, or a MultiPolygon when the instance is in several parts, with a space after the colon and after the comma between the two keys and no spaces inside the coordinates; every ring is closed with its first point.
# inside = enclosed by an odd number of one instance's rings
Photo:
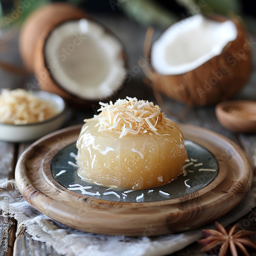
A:
{"type": "MultiPolygon", "coordinates": [[[[99,102],[101,113],[84,121],[99,120],[98,132],[111,131],[122,138],[126,134],[153,132],[167,129],[168,119],[158,105],[148,100],[126,97],[118,99],[114,104],[99,102]]],[[[152,134],[152,133],[151,133],[152,134]]]]}

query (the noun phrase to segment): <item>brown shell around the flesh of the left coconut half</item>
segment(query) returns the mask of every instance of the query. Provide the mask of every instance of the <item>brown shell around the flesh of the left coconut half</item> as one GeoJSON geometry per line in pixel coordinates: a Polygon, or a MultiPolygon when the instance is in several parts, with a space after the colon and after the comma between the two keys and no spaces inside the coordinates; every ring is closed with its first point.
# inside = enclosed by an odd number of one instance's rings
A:
{"type": "MultiPolygon", "coordinates": [[[[95,23],[98,23],[96,20],[92,18],[87,17],[87,19],[91,19],[95,23]]],[[[67,19],[64,22],[68,22],[69,20],[75,20],[75,19],[67,19]]],[[[55,27],[52,27],[51,31],[53,31],[62,23],[59,23],[55,27]]],[[[99,25],[105,29],[106,33],[110,33],[115,38],[117,38],[116,35],[114,35],[108,28],[106,28],[102,24],[99,24],[99,25]]],[[[48,33],[47,37],[50,35],[51,31],[48,33]]],[[[58,94],[59,96],[64,98],[67,101],[67,103],[70,106],[72,106],[72,108],[89,108],[93,104],[98,105],[99,101],[108,102],[110,100],[114,101],[115,99],[118,99],[118,95],[121,89],[123,89],[124,87],[125,80],[122,82],[122,84],[120,84],[120,87],[118,87],[110,97],[102,98],[102,99],[98,99],[97,97],[95,97],[97,98],[95,100],[80,98],[77,95],[73,95],[72,93],[68,92],[65,88],[63,88],[61,84],[58,84],[58,82],[54,79],[54,77],[51,74],[51,67],[50,68],[47,67],[47,63],[45,59],[45,44],[46,44],[47,37],[40,37],[38,39],[37,45],[35,48],[35,53],[34,53],[34,72],[39,83],[39,88],[41,90],[58,94]]],[[[120,41],[120,44],[123,46],[121,41],[120,41]]],[[[124,46],[123,46],[123,52],[121,54],[124,60],[125,68],[127,69],[128,64],[127,64],[126,53],[124,51],[124,46]]]]}

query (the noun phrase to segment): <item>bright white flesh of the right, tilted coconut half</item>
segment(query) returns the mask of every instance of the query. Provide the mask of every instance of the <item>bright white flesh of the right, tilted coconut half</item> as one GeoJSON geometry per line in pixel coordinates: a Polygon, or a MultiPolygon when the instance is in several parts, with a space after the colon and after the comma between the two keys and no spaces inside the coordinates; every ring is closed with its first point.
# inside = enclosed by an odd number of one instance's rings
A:
{"type": "Polygon", "coordinates": [[[151,65],[161,75],[180,75],[221,54],[238,36],[231,21],[216,22],[201,14],[180,20],[154,42],[151,65]]]}

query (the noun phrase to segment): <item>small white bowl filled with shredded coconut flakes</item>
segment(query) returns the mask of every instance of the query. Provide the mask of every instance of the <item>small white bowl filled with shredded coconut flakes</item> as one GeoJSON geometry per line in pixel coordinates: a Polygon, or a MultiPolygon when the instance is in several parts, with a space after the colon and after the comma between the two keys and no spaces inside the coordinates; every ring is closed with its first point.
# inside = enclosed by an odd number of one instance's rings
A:
{"type": "Polygon", "coordinates": [[[56,94],[4,89],[0,94],[0,140],[36,140],[57,130],[65,114],[65,101],[56,94]]]}

